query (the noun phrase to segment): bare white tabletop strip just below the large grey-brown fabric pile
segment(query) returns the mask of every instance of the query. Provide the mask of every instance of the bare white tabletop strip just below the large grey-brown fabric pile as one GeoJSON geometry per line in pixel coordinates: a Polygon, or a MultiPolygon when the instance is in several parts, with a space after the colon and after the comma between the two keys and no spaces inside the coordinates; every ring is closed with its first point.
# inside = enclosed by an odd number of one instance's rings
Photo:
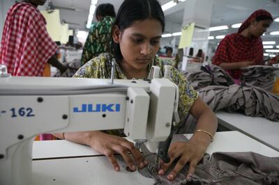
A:
{"type": "Polygon", "coordinates": [[[241,113],[216,113],[219,124],[230,130],[241,131],[243,134],[255,138],[261,143],[279,151],[279,122],[272,122],[266,118],[249,117],[241,113]]]}

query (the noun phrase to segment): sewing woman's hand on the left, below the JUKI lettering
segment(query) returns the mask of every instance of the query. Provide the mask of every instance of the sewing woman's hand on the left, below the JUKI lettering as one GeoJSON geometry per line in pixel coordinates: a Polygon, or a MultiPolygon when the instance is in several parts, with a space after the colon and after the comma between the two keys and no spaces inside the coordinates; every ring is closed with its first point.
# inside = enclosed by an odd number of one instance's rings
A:
{"type": "Polygon", "coordinates": [[[126,138],[105,134],[102,131],[92,131],[90,135],[89,146],[92,147],[93,150],[107,156],[114,170],[120,170],[119,163],[117,163],[114,157],[115,153],[121,154],[130,170],[135,171],[137,167],[143,168],[145,166],[146,162],[144,162],[140,150],[137,150],[134,144],[126,140],[126,138]]]}

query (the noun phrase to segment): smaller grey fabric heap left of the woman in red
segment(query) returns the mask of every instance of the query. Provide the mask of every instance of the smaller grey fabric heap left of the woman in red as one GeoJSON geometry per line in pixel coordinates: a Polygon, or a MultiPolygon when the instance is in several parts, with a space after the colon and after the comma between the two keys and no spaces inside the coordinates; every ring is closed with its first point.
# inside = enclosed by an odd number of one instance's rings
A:
{"type": "Polygon", "coordinates": [[[234,79],[217,65],[202,66],[198,71],[184,73],[184,76],[195,90],[206,86],[229,86],[234,84],[234,79]]]}

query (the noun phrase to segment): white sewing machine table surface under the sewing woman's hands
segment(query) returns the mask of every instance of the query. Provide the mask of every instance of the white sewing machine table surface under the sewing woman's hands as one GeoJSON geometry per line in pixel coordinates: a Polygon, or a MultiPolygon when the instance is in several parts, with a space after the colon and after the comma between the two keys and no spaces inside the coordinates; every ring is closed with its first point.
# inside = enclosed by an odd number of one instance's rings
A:
{"type": "MultiPolygon", "coordinates": [[[[190,138],[191,134],[186,136],[190,138]]],[[[276,150],[239,131],[216,133],[206,152],[250,151],[279,156],[276,150]]],[[[139,172],[126,171],[124,163],[120,163],[120,172],[115,172],[105,156],[66,140],[34,141],[33,159],[33,184],[153,184],[153,179],[139,172]]]]}

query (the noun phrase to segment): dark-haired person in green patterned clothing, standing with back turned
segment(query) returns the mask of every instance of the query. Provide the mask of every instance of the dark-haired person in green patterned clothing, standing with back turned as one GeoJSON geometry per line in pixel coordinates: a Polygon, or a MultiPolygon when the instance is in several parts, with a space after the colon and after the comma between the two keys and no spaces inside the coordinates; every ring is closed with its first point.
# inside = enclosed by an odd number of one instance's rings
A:
{"type": "Polygon", "coordinates": [[[82,51],[81,65],[84,65],[84,63],[87,63],[103,52],[110,51],[114,17],[114,6],[110,3],[100,4],[96,8],[96,19],[98,23],[91,25],[82,51]]]}

